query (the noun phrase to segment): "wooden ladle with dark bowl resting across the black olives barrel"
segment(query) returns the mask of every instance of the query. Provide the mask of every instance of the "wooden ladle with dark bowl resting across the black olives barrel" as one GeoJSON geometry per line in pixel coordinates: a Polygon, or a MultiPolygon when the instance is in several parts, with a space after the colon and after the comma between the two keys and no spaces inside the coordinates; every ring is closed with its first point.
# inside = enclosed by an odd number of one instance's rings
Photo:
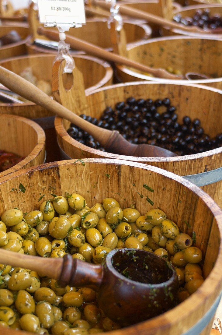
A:
{"type": "MultiPolygon", "coordinates": [[[[72,76],[72,74],[70,74],[72,76]]],[[[116,130],[100,128],[83,120],[76,114],[72,113],[66,107],[52,100],[47,94],[42,92],[36,86],[23,79],[19,75],[0,67],[0,82],[8,87],[11,91],[19,94],[35,104],[44,107],[52,113],[59,115],[61,118],[69,120],[78,127],[92,135],[107,152],[120,155],[130,155],[136,157],[172,157],[175,153],[149,144],[132,144],[124,139],[116,130]]]]}

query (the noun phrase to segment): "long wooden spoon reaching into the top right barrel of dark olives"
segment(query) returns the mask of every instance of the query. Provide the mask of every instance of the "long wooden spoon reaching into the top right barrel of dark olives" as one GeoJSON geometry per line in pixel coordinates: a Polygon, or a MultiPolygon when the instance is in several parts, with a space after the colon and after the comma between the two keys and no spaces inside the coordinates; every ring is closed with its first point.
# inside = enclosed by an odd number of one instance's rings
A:
{"type": "MultiPolygon", "coordinates": [[[[110,4],[106,3],[105,1],[93,0],[93,4],[101,8],[105,8],[105,9],[110,8],[110,4]]],[[[136,17],[139,19],[145,19],[154,24],[158,24],[161,27],[168,26],[170,28],[183,29],[185,31],[190,31],[190,32],[198,32],[199,34],[209,34],[209,33],[213,34],[213,33],[222,32],[222,29],[218,31],[213,31],[213,29],[203,30],[201,28],[194,27],[194,26],[185,26],[183,24],[179,24],[177,22],[165,19],[163,17],[144,12],[143,10],[139,10],[136,8],[130,8],[129,6],[124,6],[124,5],[119,6],[119,12],[124,15],[136,17]]]]}

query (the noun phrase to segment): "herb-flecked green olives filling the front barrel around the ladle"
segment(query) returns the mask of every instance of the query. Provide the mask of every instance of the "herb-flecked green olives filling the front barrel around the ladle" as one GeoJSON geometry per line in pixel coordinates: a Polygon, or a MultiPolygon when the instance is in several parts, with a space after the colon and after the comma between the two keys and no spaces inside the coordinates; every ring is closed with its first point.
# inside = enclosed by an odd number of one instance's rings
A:
{"type": "MultiPolygon", "coordinates": [[[[128,99],[128,105],[134,103],[135,99],[128,99]]],[[[138,100],[137,105],[143,104],[143,99],[138,100]]],[[[163,104],[170,106],[167,99],[163,104]]],[[[160,106],[161,100],[154,105],[160,106]]],[[[124,103],[119,104],[118,108],[123,106],[124,103]]],[[[43,201],[39,210],[23,214],[17,208],[9,209],[1,215],[0,248],[40,257],[64,257],[70,253],[73,259],[94,264],[102,263],[115,248],[153,252],[176,267],[178,302],[188,298],[204,281],[198,264],[202,252],[196,241],[180,232],[164,211],[153,208],[140,213],[132,205],[121,208],[118,201],[108,197],[90,208],[80,194],[66,193],[43,201]]],[[[123,275],[127,277],[127,271],[123,275]]],[[[57,335],[94,334],[119,328],[99,309],[93,289],[60,287],[55,279],[41,273],[5,264],[0,264],[0,325],[57,335]]]]}

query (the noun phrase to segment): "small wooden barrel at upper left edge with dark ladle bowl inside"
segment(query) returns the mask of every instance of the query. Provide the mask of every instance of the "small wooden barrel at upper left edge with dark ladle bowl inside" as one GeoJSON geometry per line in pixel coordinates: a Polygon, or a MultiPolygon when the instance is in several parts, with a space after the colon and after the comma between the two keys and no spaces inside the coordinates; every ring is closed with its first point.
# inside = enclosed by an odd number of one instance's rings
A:
{"type": "Polygon", "coordinates": [[[7,35],[10,31],[16,30],[21,37],[21,41],[7,44],[0,48],[0,59],[26,54],[26,42],[28,41],[28,28],[22,26],[0,26],[0,37],[7,35]]]}

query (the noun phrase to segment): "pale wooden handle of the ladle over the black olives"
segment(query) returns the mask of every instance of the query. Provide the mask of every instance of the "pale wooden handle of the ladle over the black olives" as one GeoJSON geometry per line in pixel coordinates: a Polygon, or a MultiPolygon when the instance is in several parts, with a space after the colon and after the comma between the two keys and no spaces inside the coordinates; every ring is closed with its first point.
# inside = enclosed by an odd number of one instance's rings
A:
{"type": "Polygon", "coordinates": [[[11,91],[21,95],[29,101],[44,107],[52,113],[59,115],[61,118],[69,120],[83,130],[92,134],[96,141],[105,146],[113,132],[108,129],[99,128],[89,123],[76,114],[69,111],[64,106],[52,100],[47,94],[42,92],[35,85],[18,76],[17,74],[0,66],[0,82],[8,87],[11,91]]]}

